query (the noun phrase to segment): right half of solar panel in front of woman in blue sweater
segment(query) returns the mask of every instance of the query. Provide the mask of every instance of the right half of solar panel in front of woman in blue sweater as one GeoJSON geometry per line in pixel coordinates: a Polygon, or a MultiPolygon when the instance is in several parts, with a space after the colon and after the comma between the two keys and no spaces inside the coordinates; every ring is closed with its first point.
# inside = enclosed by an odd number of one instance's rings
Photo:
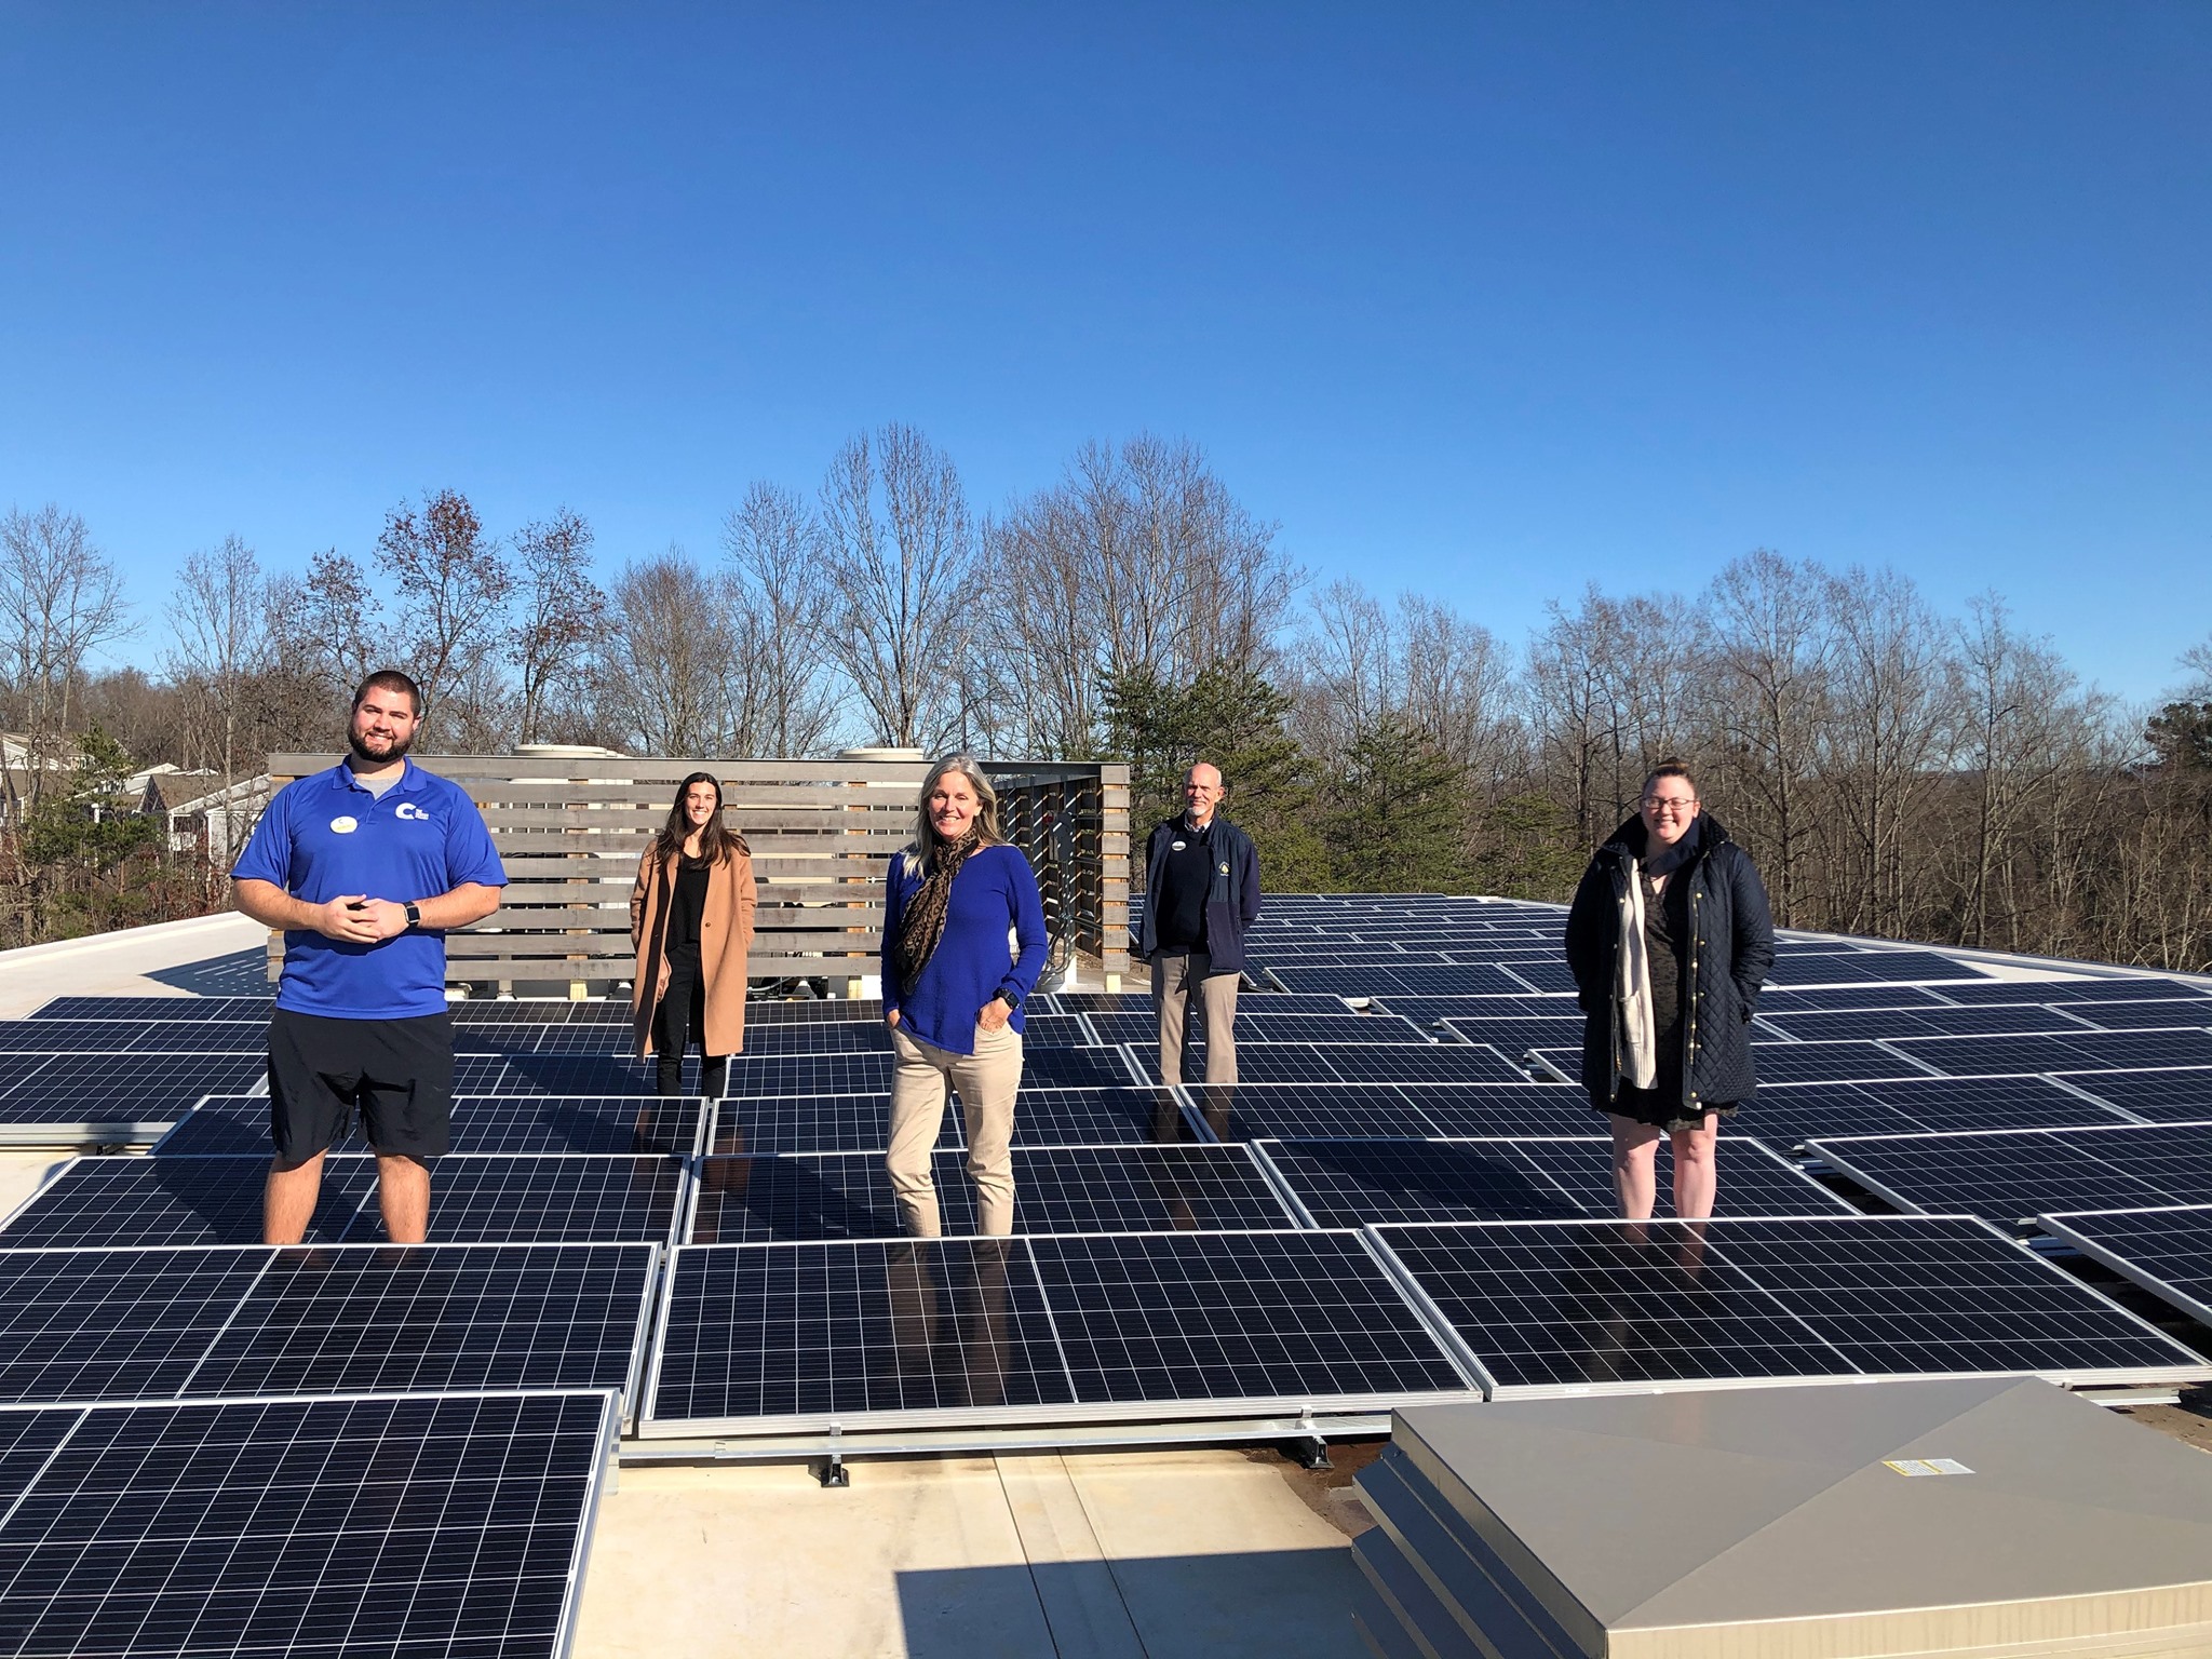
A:
{"type": "Polygon", "coordinates": [[[1467,1380],[1352,1232],[1033,1239],[1095,1405],[1405,1400],[1467,1380]]]}

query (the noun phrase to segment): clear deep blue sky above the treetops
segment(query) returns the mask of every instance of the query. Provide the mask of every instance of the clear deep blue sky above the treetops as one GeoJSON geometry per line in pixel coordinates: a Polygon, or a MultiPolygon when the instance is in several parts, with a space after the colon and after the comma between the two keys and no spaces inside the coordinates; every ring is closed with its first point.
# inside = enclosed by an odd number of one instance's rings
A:
{"type": "Polygon", "coordinates": [[[1194,438],[1515,641],[1774,546],[2148,697],[2212,633],[2212,4],[0,0],[0,507],[148,641],[230,531],[712,553],[894,418],[980,507],[1194,438]]]}

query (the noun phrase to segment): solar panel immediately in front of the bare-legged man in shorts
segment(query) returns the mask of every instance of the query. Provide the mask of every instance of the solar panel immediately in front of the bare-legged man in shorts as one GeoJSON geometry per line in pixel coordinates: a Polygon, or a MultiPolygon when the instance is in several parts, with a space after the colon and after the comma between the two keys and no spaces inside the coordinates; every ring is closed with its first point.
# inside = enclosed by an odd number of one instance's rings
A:
{"type": "Polygon", "coordinates": [[[0,1400],[628,1389],[655,1248],[0,1250],[0,1400]]]}

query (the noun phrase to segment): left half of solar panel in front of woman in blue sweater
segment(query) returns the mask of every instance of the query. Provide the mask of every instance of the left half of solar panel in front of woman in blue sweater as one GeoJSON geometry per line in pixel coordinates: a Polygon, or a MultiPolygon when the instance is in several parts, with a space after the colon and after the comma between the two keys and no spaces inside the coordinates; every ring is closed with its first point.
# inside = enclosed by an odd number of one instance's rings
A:
{"type": "Polygon", "coordinates": [[[692,1245],[653,1383],[661,1422],[998,1416],[1073,1402],[1026,1241],[692,1245]]]}

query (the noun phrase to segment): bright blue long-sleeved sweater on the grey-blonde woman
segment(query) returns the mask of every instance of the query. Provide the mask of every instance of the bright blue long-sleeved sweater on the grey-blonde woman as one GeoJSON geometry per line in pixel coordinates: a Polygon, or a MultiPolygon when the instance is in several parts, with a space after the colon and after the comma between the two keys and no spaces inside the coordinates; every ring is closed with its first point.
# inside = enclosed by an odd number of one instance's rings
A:
{"type": "MultiPolygon", "coordinates": [[[[891,947],[907,905],[922,889],[922,872],[909,874],[905,863],[905,854],[891,854],[883,883],[883,1011],[898,1009],[898,1024],[909,1037],[971,1055],[982,1004],[1009,984],[1026,998],[1044,973],[1044,902],[1037,898],[1037,878],[1020,847],[1000,843],[971,852],[953,876],[945,938],[922,964],[920,978],[900,989],[891,947]],[[1020,958],[1006,947],[1009,927],[1022,947],[1020,958]]],[[[1011,1024],[1022,1029],[1020,1009],[1011,1024]]]]}

